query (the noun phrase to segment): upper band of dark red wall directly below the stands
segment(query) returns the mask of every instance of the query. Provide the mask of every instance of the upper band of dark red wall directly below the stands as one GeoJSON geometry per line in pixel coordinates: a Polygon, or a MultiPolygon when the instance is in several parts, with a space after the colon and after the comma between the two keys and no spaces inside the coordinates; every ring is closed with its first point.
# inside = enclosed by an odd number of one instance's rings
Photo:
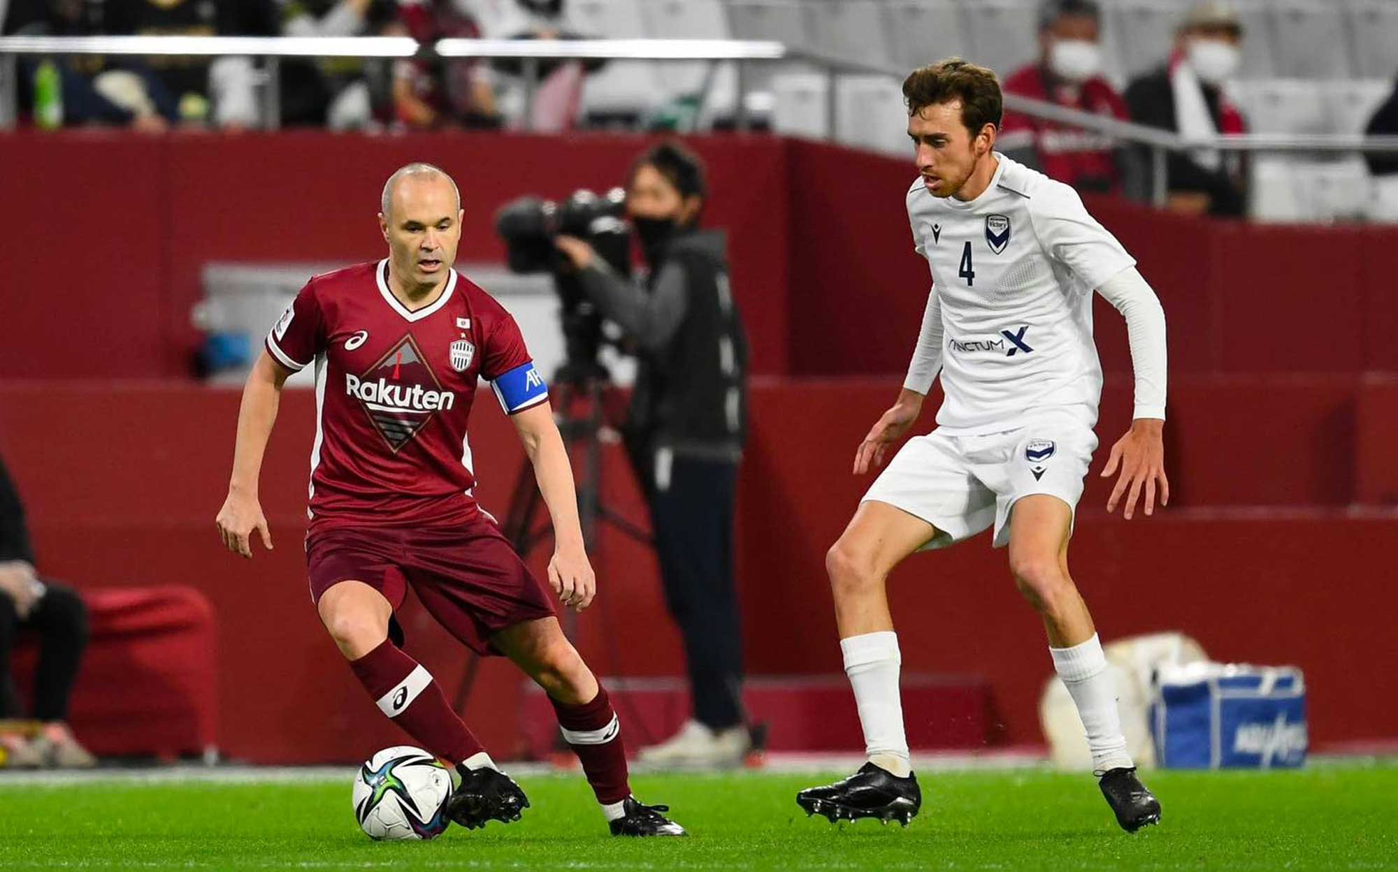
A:
{"type": "MultiPolygon", "coordinates": [[[[755,372],[902,372],[927,296],[903,194],[910,161],[770,137],[695,137],[707,221],[730,229],[755,372]]],[[[0,134],[8,271],[0,377],[182,376],[211,260],[376,257],[382,180],[440,164],[466,197],[463,257],[499,259],[498,205],[618,183],[649,140],[445,133],[164,138],[0,134]],[[63,333],[53,319],[62,306],[63,333]],[[62,341],[56,341],[57,337],[62,341]]],[[[1170,320],[1176,373],[1398,370],[1398,229],[1253,226],[1109,198],[1089,207],[1141,263],[1170,320]]],[[[1097,302],[1109,372],[1120,317],[1097,302]]]]}

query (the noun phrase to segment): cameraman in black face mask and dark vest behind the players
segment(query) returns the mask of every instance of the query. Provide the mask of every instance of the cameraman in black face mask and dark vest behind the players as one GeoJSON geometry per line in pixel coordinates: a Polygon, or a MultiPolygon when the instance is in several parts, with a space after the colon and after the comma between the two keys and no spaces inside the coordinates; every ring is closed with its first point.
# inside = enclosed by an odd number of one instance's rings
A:
{"type": "Polygon", "coordinates": [[[664,143],[632,165],[626,211],[650,267],[630,284],[559,236],[583,292],[639,358],[626,449],[650,506],[665,601],[684,636],[693,714],[642,749],[657,766],[737,766],[751,748],[733,584],[733,503],[747,428],[748,344],[728,292],[724,235],[700,231],[703,165],[664,143]]]}

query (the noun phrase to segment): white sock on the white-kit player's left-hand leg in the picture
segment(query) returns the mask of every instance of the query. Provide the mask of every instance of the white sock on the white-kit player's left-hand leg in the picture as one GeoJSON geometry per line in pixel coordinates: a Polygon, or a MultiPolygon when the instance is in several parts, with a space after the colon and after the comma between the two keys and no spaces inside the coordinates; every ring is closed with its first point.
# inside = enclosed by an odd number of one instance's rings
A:
{"type": "Polygon", "coordinates": [[[850,676],[854,704],[860,710],[870,762],[906,778],[913,767],[903,732],[903,700],[898,690],[898,672],[903,662],[898,633],[884,630],[850,636],[840,640],[840,651],[844,653],[844,674],[850,676]]]}

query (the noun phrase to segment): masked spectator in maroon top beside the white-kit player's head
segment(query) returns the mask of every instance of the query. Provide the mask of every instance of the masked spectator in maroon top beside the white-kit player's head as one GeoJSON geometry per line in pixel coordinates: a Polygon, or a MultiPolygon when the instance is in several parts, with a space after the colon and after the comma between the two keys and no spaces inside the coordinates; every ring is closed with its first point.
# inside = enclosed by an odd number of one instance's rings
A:
{"type": "MultiPolygon", "coordinates": [[[[1044,0],[1039,7],[1039,61],[1005,80],[1007,94],[1125,120],[1127,105],[1102,77],[1096,0],[1044,0]]],[[[995,145],[1011,158],[1078,190],[1123,190],[1128,157],[1100,133],[1005,110],[995,145]]]]}

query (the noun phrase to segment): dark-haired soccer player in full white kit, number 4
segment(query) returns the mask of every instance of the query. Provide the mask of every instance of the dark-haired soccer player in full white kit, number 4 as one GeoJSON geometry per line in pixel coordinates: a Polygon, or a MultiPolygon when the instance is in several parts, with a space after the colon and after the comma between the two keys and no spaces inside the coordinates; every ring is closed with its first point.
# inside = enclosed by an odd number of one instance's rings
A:
{"type": "Polygon", "coordinates": [[[1165,477],[1165,313],[1135,260],[1060,182],[994,151],[995,74],[951,59],[903,82],[920,177],[907,191],[917,252],[932,272],[917,349],[898,402],[854,456],[882,464],[917,421],[941,370],[937,428],[914,436],[870,488],[826,555],[844,671],[868,752],[856,774],[797,795],[808,813],[907,823],[921,806],[903,732],[899,647],[885,579],[917,551],[994,528],[1009,572],[1043,619],[1048,653],[1076,703],[1095,774],[1123,829],[1160,819],[1135,776],[1107,661],[1068,574],[1068,539],[1097,447],[1102,366],[1092,293],[1127,321],[1135,370],[1131,429],[1102,475],[1120,470],[1107,511],[1169,502],[1165,477]],[[1124,497],[1124,499],[1123,499],[1124,497]]]}

